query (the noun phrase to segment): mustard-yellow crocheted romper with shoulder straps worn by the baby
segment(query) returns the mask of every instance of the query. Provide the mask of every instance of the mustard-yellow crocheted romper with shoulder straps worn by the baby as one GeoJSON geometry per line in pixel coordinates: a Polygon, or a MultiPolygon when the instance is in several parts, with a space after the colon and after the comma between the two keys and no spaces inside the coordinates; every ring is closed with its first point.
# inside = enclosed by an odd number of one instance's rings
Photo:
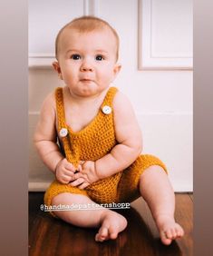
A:
{"type": "MultiPolygon", "coordinates": [[[[63,88],[56,89],[58,132],[62,128],[68,131],[67,135],[62,138],[63,149],[66,159],[72,162],[74,166],[77,166],[79,161],[96,161],[102,158],[107,153],[110,153],[111,149],[117,144],[112,109],[112,102],[116,92],[117,88],[111,87],[103,100],[99,113],[92,122],[80,132],[74,133],[72,128],[65,123],[63,88]],[[110,106],[111,113],[104,113],[102,111],[104,106],[110,106]]],[[[141,173],[151,165],[160,165],[167,172],[163,162],[155,156],[146,154],[140,155],[130,167],[122,172],[94,182],[83,190],[55,180],[45,192],[44,203],[50,206],[53,197],[63,192],[86,195],[97,203],[132,202],[140,196],[138,184],[141,173]]]]}

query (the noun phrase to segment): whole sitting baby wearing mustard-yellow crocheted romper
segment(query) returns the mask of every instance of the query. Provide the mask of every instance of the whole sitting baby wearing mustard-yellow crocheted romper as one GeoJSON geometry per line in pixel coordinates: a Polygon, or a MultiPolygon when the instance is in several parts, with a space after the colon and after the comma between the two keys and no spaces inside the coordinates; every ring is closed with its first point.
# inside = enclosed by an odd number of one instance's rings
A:
{"type": "MultiPolygon", "coordinates": [[[[44,100],[34,143],[55,181],[44,195],[48,206],[148,203],[169,245],[184,231],[174,220],[175,198],[165,165],[140,155],[140,127],[128,98],[110,86],[119,74],[119,37],[107,22],[82,16],[63,26],[53,68],[64,81],[44,100]]],[[[79,227],[97,227],[95,241],[116,239],[127,220],[107,208],[53,211],[79,227]]]]}

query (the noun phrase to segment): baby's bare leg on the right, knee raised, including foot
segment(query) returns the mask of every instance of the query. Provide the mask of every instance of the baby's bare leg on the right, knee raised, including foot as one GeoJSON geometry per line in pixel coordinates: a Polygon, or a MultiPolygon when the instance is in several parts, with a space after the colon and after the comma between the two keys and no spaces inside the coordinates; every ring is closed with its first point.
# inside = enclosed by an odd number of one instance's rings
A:
{"type": "Polygon", "coordinates": [[[169,245],[172,240],[183,236],[183,229],[174,220],[174,192],[160,166],[150,166],[141,174],[140,194],[150,207],[164,244],[169,245]]]}

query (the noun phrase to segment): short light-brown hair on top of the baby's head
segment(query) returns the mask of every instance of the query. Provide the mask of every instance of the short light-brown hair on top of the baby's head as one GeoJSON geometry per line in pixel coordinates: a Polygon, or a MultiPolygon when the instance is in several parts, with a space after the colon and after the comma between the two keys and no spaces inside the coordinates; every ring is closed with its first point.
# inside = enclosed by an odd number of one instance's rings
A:
{"type": "Polygon", "coordinates": [[[85,32],[92,32],[95,30],[102,30],[102,28],[104,27],[109,28],[115,37],[116,44],[117,44],[117,50],[116,50],[116,61],[117,61],[119,58],[119,35],[113,29],[113,27],[109,25],[109,23],[102,20],[101,18],[94,17],[94,16],[81,16],[79,18],[73,19],[73,21],[63,26],[63,28],[59,31],[59,33],[56,36],[55,57],[56,58],[58,57],[59,41],[60,41],[61,34],[65,29],[70,28],[70,29],[75,29],[79,31],[80,33],[85,33],[85,32]]]}

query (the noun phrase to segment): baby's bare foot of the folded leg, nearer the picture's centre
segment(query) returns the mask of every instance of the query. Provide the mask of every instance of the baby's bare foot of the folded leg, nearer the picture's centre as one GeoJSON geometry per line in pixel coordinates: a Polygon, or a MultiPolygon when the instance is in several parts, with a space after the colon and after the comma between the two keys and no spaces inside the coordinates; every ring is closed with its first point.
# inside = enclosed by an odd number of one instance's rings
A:
{"type": "Polygon", "coordinates": [[[116,239],[118,233],[127,226],[127,220],[119,213],[107,211],[102,214],[101,228],[95,235],[95,241],[116,239]]]}

